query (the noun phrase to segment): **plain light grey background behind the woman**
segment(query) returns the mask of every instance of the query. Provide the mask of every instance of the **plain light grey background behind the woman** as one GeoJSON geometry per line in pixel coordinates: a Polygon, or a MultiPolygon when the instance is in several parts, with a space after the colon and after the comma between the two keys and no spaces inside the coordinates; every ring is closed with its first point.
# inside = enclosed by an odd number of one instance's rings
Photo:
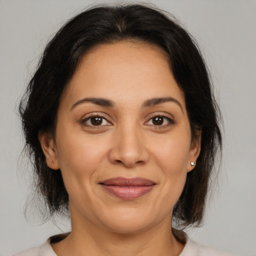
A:
{"type": "MultiPolygon", "coordinates": [[[[93,2],[0,0],[1,255],[40,244],[61,232],[52,223],[35,225],[37,220],[27,222],[23,216],[28,187],[23,175],[25,160],[19,158],[23,140],[16,104],[49,36],[93,2]]],[[[219,186],[211,196],[204,225],[187,232],[201,243],[256,255],[256,1],[151,2],[179,18],[198,40],[224,118],[219,186]]],[[[58,226],[68,229],[67,223],[58,226]]]]}

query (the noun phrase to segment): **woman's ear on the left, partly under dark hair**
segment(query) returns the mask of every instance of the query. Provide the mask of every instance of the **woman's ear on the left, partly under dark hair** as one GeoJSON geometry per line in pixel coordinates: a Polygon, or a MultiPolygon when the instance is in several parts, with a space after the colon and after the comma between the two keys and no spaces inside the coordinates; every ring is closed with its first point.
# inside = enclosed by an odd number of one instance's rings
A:
{"type": "Polygon", "coordinates": [[[57,151],[54,144],[54,139],[51,134],[44,131],[38,131],[38,139],[40,141],[42,151],[46,158],[46,163],[49,168],[57,170],[59,164],[57,160],[57,151]]]}

